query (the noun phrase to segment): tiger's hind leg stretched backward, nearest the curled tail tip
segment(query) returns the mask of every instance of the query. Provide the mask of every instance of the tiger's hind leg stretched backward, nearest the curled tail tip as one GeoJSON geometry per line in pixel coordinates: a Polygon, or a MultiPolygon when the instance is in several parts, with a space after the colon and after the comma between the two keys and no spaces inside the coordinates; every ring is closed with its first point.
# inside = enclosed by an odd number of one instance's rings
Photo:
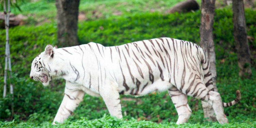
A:
{"type": "MultiPolygon", "coordinates": [[[[215,91],[209,90],[203,83],[200,81],[194,86],[194,89],[185,90],[187,95],[195,97],[197,99],[208,102],[212,105],[216,118],[220,124],[228,123],[228,119],[224,114],[221,95],[215,91]]],[[[193,87],[192,87],[193,88],[193,87]]],[[[184,89],[184,88],[183,88],[184,89]]],[[[184,90],[183,90],[184,91],[184,90]]]]}

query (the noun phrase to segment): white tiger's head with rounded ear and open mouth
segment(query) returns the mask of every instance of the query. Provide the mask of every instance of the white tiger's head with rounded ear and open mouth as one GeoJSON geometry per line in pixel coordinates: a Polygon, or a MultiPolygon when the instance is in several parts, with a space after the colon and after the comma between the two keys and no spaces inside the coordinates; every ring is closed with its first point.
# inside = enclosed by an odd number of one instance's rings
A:
{"type": "Polygon", "coordinates": [[[48,44],[44,52],[34,58],[31,64],[30,78],[34,81],[41,81],[44,86],[49,85],[51,77],[51,65],[54,63],[54,52],[57,46],[48,44]]]}

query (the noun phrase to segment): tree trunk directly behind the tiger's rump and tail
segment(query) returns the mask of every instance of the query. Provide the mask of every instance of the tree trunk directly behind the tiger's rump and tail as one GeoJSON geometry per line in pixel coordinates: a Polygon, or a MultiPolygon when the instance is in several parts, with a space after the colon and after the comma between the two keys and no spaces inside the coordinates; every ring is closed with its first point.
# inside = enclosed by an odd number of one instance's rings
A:
{"type": "MultiPolygon", "coordinates": [[[[201,5],[201,22],[200,22],[200,46],[204,52],[208,55],[212,77],[214,91],[218,91],[216,87],[216,65],[215,65],[215,47],[213,42],[213,17],[215,10],[215,0],[202,0],[201,5]]],[[[202,101],[202,107],[204,112],[204,118],[209,118],[214,122],[217,121],[212,106],[202,101]]]]}

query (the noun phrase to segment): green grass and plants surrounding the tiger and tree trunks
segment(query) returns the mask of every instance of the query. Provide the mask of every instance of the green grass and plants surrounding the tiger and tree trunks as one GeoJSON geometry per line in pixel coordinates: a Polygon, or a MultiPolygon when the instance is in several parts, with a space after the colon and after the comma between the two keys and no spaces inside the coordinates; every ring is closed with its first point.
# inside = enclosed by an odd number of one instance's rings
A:
{"type": "MultiPolygon", "coordinates": [[[[164,14],[182,0],[81,0],[78,36],[81,44],[101,43],[120,45],[159,37],[172,37],[199,44],[200,11],[164,14]]],[[[197,0],[200,2],[200,0],[197,0]]],[[[0,95],[0,127],[53,127],[53,118],[63,98],[65,82],[54,81],[49,87],[29,79],[31,62],[44,51],[47,44],[57,42],[54,1],[25,1],[20,6],[28,16],[27,24],[10,29],[10,47],[15,89],[15,115],[11,118],[11,98],[0,95]]],[[[245,10],[247,35],[256,37],[256,11],[245,10]]],[[[252,77],[238,76],[237,55],[233,39],[230,6],[216,9],[214,42],[217,67],[217,87],[222,100],[233,100],[241,91],[239,104],[225,108],[230,124],[219,125],[205,121],[201,102],[189,97],[193,111],[188,124],[175,125],[177,113],[167,92],[139,98],[121,96],[124,118],[109,116],[102,98],[85,95],[83,102],[62,125],[55,127],[255,127],[256,126],[256,41],[250,40],[252,77]],[[147,121],[145,121],[147,120],[147,121]],[[138,121],[138,122],[137,122],[138,121]],[[157,124],[160,123],[160,124],[157,124]]],[[[0,30],[0,85],[3,85],[5,30],[0,30]]],[[[0,86],[0,92],[3,86],[0,86]]]]}

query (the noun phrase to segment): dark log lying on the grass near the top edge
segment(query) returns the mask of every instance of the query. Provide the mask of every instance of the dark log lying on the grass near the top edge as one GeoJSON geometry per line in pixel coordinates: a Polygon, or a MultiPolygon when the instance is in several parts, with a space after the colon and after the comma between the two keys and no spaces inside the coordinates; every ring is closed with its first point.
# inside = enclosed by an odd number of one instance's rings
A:
{"type": "Polygon", "coordinates": [[[196,0],[187,0],[180,2],[173,6],[171,9],[167,11],[167,13],[174,13],[174,12],[188,12],[188,11],[196,11],[199,10],[199,5],[196,0]]]}

